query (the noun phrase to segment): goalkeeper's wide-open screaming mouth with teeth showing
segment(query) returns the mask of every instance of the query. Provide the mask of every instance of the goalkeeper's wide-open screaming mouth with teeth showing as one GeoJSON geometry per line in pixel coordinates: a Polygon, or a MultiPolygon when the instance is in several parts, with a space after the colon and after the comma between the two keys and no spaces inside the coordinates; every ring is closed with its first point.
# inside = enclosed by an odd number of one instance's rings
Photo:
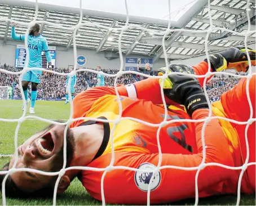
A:
{"type": "Polygon", "coordinates": [[[46,157],[50,156],[55,148],[55,136],[52,132],[45,133],[42,137],[36,140],[38,152],[46,157]]]}

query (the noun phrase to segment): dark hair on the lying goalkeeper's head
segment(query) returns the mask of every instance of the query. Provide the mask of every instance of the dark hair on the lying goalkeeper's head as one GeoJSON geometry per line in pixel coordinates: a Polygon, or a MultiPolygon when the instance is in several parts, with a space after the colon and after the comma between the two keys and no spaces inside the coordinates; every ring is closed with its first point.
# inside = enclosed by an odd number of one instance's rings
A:
{"type": "MultiPolygon", "coordinates": [[[[5,164],[1,171],[8,171],[10,162],[5,164]]],[[[0,174],[0,191],[2,193],[3,179],[7,174],[0,174]]],[[[58,176],[57,176],[58,177],[58,176]]],[[[56,177],[56,178],[57,178],[56,177]]],[[[48,185],[42,189],[33,192],[25,192],[16,186],[10,176],[7,177],[5,182],[5,194],[7,198],[48,198],[54,194],[54,186],[48,185]]]]}

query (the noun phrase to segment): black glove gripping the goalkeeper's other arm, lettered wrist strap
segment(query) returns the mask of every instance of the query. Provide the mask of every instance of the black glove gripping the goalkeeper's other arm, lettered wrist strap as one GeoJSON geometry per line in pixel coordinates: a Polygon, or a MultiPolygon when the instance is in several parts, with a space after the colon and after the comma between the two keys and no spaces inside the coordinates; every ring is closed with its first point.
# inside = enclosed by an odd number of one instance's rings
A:
{"type": "MultiPolygon", "coordinates": [[[[180,65],[174,64],[170,65],[168,69],[158,69],[158,76],[164,75],[167,72],[168,78],[164,79],[164,94],[170,100],[184,105],[187,113],[192,117],[195,110],[202,108],[209,109],[209,105],[202,92],[200,83],[195,77],[189,77],[186,74],[171,74],[171,71],[180,71],[183,73],[182,70],[184,73],[188,73],[188,71],[191,72],[193,69],[186,65],[180,67],[180,65]]],[[[160,79],[161,83],[162,79],[160,79]]]]}

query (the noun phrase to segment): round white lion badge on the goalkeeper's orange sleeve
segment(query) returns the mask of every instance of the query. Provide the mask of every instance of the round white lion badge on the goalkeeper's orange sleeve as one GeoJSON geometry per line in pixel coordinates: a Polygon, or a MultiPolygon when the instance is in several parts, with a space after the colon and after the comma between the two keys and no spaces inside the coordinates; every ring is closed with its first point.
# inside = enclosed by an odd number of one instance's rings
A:
{"type": "MultiPolygon", "coordinates": [[[[140,164],[138,169],[141,169],[143,171],[152,171],[156,169],[156,166],[150,163],[143,163],[140,164]]],[[[134,180],[137,185],[137,187],[144,191],[148,191],[149,182],[151,180],[151,177],[153,176],[153,172],[135,172],[134,174],[134,180]]],[[[151,191],[156,190],[157,187],[160,185],[161,182],[161,172],[158,171],[155,175],[155,177],[152,177],[153,181],[151,182],[151,191]]]]}

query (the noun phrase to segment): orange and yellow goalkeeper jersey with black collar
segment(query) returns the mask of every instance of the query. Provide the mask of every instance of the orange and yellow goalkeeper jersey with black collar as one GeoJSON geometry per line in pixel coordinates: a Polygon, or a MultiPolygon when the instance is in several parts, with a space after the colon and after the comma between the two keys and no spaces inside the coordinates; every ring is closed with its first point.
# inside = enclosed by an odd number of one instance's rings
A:
{"type": "MultiPolygon", "coordinates": [[[[201,65],[202,66],[202,65],[201,65]]],[[[197,66],[200,69],[200,66],[197,66]]],[[[196,70],[196,68],[195,68],[196,70]]],[[[192,119],[198,123],[186,122],[191,119],[183,106],[166,99],[168,106],[167,120],[161,129],[155,124],[164,120],[165,110],[158,80],[147,79],[129,86],[119,86],[122,105],[122,119],[119,119],[119,105],[112,87],[96,87],[82,92],[74,98],[73,118],[87,117],[107,119],[104,124],[104,137],[109,138],[103,154],[93,160],[87,167],[105,168],[114,155],[114,166],[139,168],[144,171],[155,169],[159,160],[157,134],[162,152],[161,166],[197,167],[202,162],[202,119],[208,117],[207,109],[196,110],[192,119]],[[133,119],[130,119],[133,118],[133,119]],[[144,124],[143,122],[147,122],[144,124]],[[114,126],[114,122],[116,126],[114,126]],[[113,145],[111,144],[113,137],[113,145]],[[114,153],[112,154],[112,147],[114,153]]],[[[217,115],[226,115],[221,104],[213,109],[217,115]]],[[[100,121],[100,120],[99,120],[100,121]]],[[[85,121],[87,122],[87,121],[85,121]]],[[[80,126],[82,120],[74,122],[71,127],[80,126]]],[[[220,163],[234,166],[237,153],[240,154],[237,132],[231,124],[211,120],[205,127],[206,163],[220,163]],[[230,131],[230,134],[228,133],[230,131]],[[233,136],[234,140],[230,136],[233,136]],[[237,137],[237,138],[236,138],[237,137]]],[[[239,156],[239,155],[238,155],[239,156]]],[[[241,156],[241,155],[240,155],[241,156]]],[[[151,183],[151,203],[164,203],[195,196],[196,170],[165,168],[158,171],[151,183]]],[[[101,177],[103,172],[82,171],[80,180],[86,190],[101,200],[101,177]]],[[[125,168],[108,171],[104,177],[104,198],[107,203],[145,204],[147,190],[152,172],[135,172],[125,168]]],[[[209,166],[198,176],[199,196],[222,193],[235,193],[239,171],[222,167],[209,166]]],[[[242,188],[248,181],[242,181],[242,188]]],[[[255,189],[254,189],[255,190],[255,189]]],[[[251,191],[251,190],[250,190],[251,191]]]]}

